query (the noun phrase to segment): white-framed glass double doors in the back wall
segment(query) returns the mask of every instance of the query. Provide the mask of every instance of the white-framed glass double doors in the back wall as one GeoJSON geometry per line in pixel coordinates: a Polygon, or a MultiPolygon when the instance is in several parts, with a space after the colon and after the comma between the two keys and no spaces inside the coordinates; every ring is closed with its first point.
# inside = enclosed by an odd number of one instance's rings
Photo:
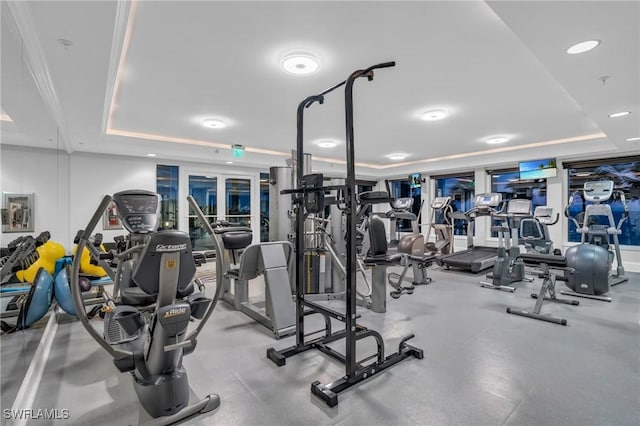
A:
{"type": "MultiPolygon", "coordinates": [[[[209,223],[227,221],[253,228],[253,179],[250,176],[189,174],[189,195],[209,223]]],[[[212,237],[189,209],[189,235],[193,250],[214,250],[212,237]]]]}

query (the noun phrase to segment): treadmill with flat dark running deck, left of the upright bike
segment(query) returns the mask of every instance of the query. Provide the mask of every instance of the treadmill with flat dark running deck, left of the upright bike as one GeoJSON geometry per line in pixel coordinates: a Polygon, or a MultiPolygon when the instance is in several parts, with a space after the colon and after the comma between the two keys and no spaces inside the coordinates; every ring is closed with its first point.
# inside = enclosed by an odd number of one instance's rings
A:
{"type": "Polygon", "coordinates": [[[467,249],[455,253],[440,256],[436,263],[445,266],[447,269],[453,267],[478,273],[491,268],[498,257],[497,247],[476,246],[473,244],[473,231],[475,221],[481,216],[492,216],[500,213],[498,207],[502,204],[502,194],[490,192],[478,194],[474,199],[474,207],[464,213],[454,212],[454,219],[466,220],[469,224],[467,228],[467,249]],[[456,214],[457,213],[457,214],[456,214]]]}

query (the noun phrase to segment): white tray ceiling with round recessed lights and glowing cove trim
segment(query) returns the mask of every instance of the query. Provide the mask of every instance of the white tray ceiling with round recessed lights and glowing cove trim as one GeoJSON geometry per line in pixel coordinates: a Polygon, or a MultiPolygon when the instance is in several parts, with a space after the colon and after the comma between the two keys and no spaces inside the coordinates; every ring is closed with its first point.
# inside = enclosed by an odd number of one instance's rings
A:
{"type": "MultiPolygon", "coordinates": [[[[236,164],[266,169],[295,147],[303,98],[394,60],[355,86],[363,176],[638,153],[625,139],[640,136],[639,21],[638,1],[3,2],[2,143],[214,164],[242,144],[236,164]],[[592,38],[593,51],[565,53],[592,38]],[[283,73],[293,49],[320,70],[283,73]],[[417,118],[436,107],[451,115],[417,118]],[[620,110],[632,113],[608,118],[620,110]],[[229,126],[204,128],[207,117],[229,126]],[[393,152],[410,155],[398,164],[393,152]]],[[[342,89],[306,110],[314,158],[342,161],[344,132],[342,89]]]]}

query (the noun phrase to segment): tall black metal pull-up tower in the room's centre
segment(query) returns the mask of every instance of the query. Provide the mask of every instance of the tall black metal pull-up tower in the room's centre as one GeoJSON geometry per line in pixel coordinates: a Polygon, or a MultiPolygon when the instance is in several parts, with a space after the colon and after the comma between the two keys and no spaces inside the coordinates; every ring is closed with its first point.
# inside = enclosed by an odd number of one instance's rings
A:
{"type": "MultiPolygon", "coordinates": [[[[335,312],[325,306],[305,299],[304,291],[304,268],[296,268],[296,344],[294,346],[275,350],[267,349],[267,357],[278,366],[286,363],[286,358],[309,349],[319,351],[331,356],[337,361],[345,364],[345,375],[340,379],[323,385],[319,381],[311,384],[311,392],[322,398],[330,407],[338,404],[338,393],[365,380],[379,372],[395,365],[396,363],[413,356],[418,359],[423,358],[422,349],[408,345],[407,340],[414,337],[410,334],[404,337],[398,346],[398,351],[385,357],[384,340],[382,336],[373,330],[369,330],[356,323],[356,227],[357,227],[357,200],[356,200],[356,177],[355,177],[355,155],[354,155],[354,135],[353,135],[353,84],[360,77],[367,77],[373,80],[373,70],[378,68],[388,68],[395,66],[395,62],[385,62],[373,65],[364,70],[353,72],[347,80],[338,83],[318,95],[309,96],[298,105],[297,109],[297,180],[296,189],[283,191],[292,194],[292,202],[296,208],[296,265],[303,265],[304,256],[304,194],[310,192],[324,191],[328,187],[305,188],[303,182],[304,164],[304,140],[303,140],[303,117],[304,109],[309,108],[315,102],[322,104],[324,95],[345,86],[345,119],[346,119],[346,149],[347,149],[347,178],[346,184],[341,187],[345,193],[345,209],[347,215],[347,262],[346,262],[346,314],[335,312]],[[320,314],[325,321],[325,335],[305,342],[304,319],[306,315],[320,314]],[[332,332],[331,318],[345,323],[344,330],[332,332]],[[356,342],[366,337],[376,340],[377,352],[364,359],[356,359],[356,342]],[[342,354],[328,346],[328,344],[339,339],[346,339],[345,354],[342,354]],[[375,359],[375,361],[368,363],[375,359]]],[[[332,187],[335,189],[335,187],[332,187]]],[[[322,331],[322,330],[320,330],[322,331]]],[[[319,331],[318,331],[319,332],[319,331]]],[[[315,334],[317,332],[309,333],[315,334]]]]}

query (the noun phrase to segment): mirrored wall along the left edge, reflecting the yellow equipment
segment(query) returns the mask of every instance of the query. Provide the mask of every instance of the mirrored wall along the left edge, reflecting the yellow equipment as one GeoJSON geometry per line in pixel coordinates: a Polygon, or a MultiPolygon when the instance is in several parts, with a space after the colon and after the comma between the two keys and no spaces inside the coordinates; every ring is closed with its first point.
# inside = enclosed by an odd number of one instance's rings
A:
{"type": "MultiPolygon", "coordinates": [[[[3,248],[2,255],[7,256],[18,247],[27,250],[20,241],[26,236],[35,238],[43,231],[50,231],[52,241],[68,239],[67,235],[56,235],[59,233],[56,224],[61,220],[57,213],[68,209],[68,197],[60,191],[68,188],[69,156],[61,148],[56,121],[33,77],[27,48],[11,7],[7,2],[2,2],[0,7],[0,247],[3,248]],[[43,189],[45,185],[48,190],[43,189]]],[[[60,255],[69,247],[60,245],[56,249],[56,255],[60,255]]],[[[44,258],[44,255],[39,256],[44,258]]],[[[5,262],[6,257],[2,264],[5,262]]],[[[53,311],[47,307],[51,297],[44,297],[42,306],[31,310],[25,309],[25,301],[34,282],[43,288],[52,286],[55,271],[51,271],[49,278],[23,271],[16,273],[4,268],[0,277],[0,319],[3,322],[0,400],[5,407],[11,407],[16,401],[53,311]],[[28,326],[15,330],[21,310],[26,318],[23,324],[28,323],[28,326]],[[40,315],[36,311],[44,313],[40,315]]]]}

